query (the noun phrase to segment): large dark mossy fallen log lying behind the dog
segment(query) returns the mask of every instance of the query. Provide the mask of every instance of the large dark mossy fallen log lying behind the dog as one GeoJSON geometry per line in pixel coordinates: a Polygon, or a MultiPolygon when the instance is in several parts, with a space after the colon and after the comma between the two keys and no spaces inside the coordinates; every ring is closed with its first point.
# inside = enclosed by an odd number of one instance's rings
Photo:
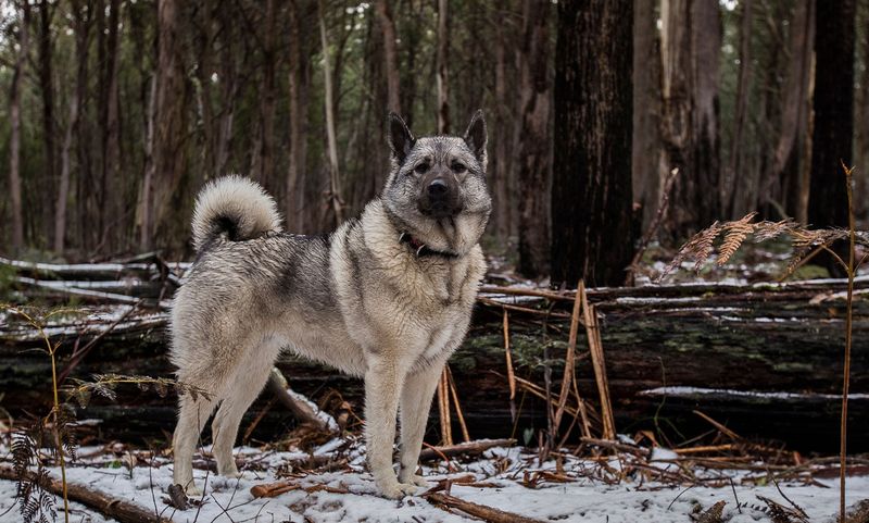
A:
{"type": "MultiPolygon", "coordinates": [[[[851,449],[867,451],[869,278],[858,279],[856,289],[851,449]]],[[[553,378],[559,381],[572,294],[542,291],[542,298],[528,296],[529,291],[522,296],[516,289],[484,290],[488,292],[481,295],[471,331],[450,364],[471,436],[521,436],[527,427],[545,425],[545,409],[539,399],[522,398],[520,390],[516,401],[519,420],[514,429],[505,377],[503,315],[505,311],[508,314],[516,375],[542,385],[543,369],[549,366],[553,378]],[[549,360],[543,358],[544,348],[549,360]]],[[[844,290],[842,281],[590,289],[589,299],[600,313],[617,428],[632,432],[664,427],[666,432],[672,427],[668,433],[671,437],[677,429],[688,437],[709,428],[692,413],[696,409],[746,437],[780,439],[801,449],[834,450],[840,407],[836,395],[842,386],[844,290]]],[[[72,376],[171,374],[165,317],[148,317],[144,326],[130,321],[105,334],[72,376]]],[[[580,394],[594,402],[594,374],[580,331],[576,375],[580,394]]],[[[80,337],[72,331],[52,334],[53,340],[61,341],[61,369],[76,340],[80,346],[98,332],[92,328],[80,337]]],[[[40,407],[50,397],[49,360],[45,353],[29,350],[39,347],[33,333],[27,336],[11,326],[0,332],[2,406],[13,415],[41,412],[40,407]]],[[[360,381],[291,354],[282,356],[277,366],[293,389],[314,399],[335,389],[362,410],[360,381]]],[[[113,434],[123,424],[124,409],[135,407],[137,423],[154,427],[143,437],[159,437],[159,428],[172,429],[172,398],[139,390],[121,393],[115,403],[95,400],[79,416],[106,418],[102,429],[113,434]],[[153,416],[148,415],[149,409],[153,416]]],[[[254,406],[249,419],[263,403],[261,399],[254,406]]],[[[288,418],[273,408],[254,437],[272,437],[288,424],[288,418]]],[[[128,433],[128,428],[124,431],[128,433]]],[[[146,432],[144,426],[141,429],[146,432]]]]}

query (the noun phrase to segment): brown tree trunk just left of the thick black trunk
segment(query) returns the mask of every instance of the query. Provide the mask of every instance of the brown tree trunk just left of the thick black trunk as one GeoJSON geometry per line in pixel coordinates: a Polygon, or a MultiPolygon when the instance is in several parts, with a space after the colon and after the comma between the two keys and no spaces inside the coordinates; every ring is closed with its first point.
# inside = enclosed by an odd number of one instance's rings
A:
{"type": "MultiPolygon", "coordinates": [[[[550,270],[550,77],[549,4],[541,9],[534,0],[522,3],[522,37],[519,69],[520,130],[514,161],[521,190],[519,198],[519,264],[526,277],[538,277],[550,270]]],[[[557,147],[557,146],[556,146],[557,147]]]]}

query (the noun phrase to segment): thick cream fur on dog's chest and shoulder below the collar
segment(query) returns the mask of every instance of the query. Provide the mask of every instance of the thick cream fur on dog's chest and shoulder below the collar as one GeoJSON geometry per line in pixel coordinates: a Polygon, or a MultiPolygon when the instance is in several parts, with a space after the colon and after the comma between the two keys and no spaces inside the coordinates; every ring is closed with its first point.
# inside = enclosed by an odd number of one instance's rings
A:
{"type": "Polygon", "coordinates": [[[370,352],[393,351],[417,368],[445,358],[464,338],[486,271],[479,246],[459,258],[417,258],[373,203],[336,233],[331,272],[349,335],[370,352]]]}

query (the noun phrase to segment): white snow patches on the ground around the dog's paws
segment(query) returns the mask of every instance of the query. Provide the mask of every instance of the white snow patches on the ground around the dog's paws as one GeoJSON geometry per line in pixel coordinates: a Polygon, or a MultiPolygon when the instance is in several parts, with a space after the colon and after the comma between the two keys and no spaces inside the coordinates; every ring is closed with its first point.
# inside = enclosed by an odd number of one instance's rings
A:
{"type": "MultiPolygon", "coordinates": [[[[201,507],[178,511],[166,503],[166,489],[172,482],[172,463],[168,459],[155,457],[139,460],[131,469],[124,465],[129,462],[114,453],[97,452],[95,449],[81,449],[81,456],[93,454],[92,458],[80,459],[67,470],[70,482],[88,485],[117,498],[129,500],[141,507],[172,518],[177,523],[184,522],[465,522],[477,521],[461,512],[451,513],[434,507],[419,496],[406,497],[400,501],[383,499],[377,496],[370,474],[365,471],[364,456],[361,446],[354,445],[341,449],[341,445],[330,441],[315,450],[315,456],[328,452],[342,452],[348,460],[345,471],[304,473],[294,471],[290,480],[297,482],[299,489],[291,490],[274,498],[255,499],[251,487],[278,481],[275,473],[282,464],[300,463],[308,453],[263,451],[249,447],[236,449],[238,458],[248,463],[244,477],[228,480],[217,477],[213,473],[197,470],[198,485],[207,482],[206,494],[201,507]],[[260,470],[253,470],[260,469],[260,470]],[[323,490],[328,487],[331,490],[323,490]],[[306,491],[307,488],[311,491],[306,491]]],[[[205,448],[207,450],[207,448],[205,448]]],[[[7,448],[0,448],[0,461],[9,462],[7,448]]],[[[127,454],[129,456],[129,454],[127,454]]],[[[665,460],[658,465],[663,470],[675,466],[666,460],[675,453],[666,449],[656,449],[651,463],[665,460]]],[[[336,458],[338,456],[336,454],[336,458]]],[[[567,457],[563,472],[555,473],[549,480],[543,475],[537,482],[536,472],[556,472],[552,461],[538,466],[536,456],[519,448],[495,448],[487,451],[480,459],[469,463],[453,461],[455,470],[446,473],[444,465],[424,469],[424,475],[432,483],[445,477],[457,478],[471,474],[478,482],[474,486],[453,484],[451,495],[466,501],[486,505],[492,508],[518,513],[541,521],[564,522],[609,522],[632,523],[635,521],[689,522],[697,506],[704,510],[715,502],[723,500],[725,521],[733,523],[770,521],[759,510],[765,507],[756,496],[765,496],[790,507],[790,502],[774,485],[757,486],[742,484],[745,477],[740,471],[707,471],[707,478],[723,478],[727,487],[690,487],[664,485],[660,483],[642,483],[624,481],[620,484],[606,484],[600,481],[593,470],[600,470],[596,463],[567,457]],[[568,483],[552,483],[553,477],[569,476],[575,478],[568,483]],[[529,482],[528,478],[532,480],[529,482]],[[742,513],[736,509],[734,489],[730,488],[728,477],[733,480],[735,496],[741,503],[742,513]]],[[[619,470],[619,462],[613,460],[609,465],[619,470]]],[[[243,469],[242,469],[243,470],[243,469]]],[[[52,469],[52,475],[59,477],[59,471],[52,469]]],[[[537,475],[537,477],[541,477],[537,475]]],[[[809,515],[811,522],[833,522],[839,507],[837,482],[834,480],[816,480],[815,485],[803,483],[780,483],[781,491],[809,515]]],[[[21,516],[15,503],[15,484],[0,481],[0,522],[18,522],[21,516]]],[[[847,502],[854,505],[860,499],[869,498],[869,476],[852,477],[848,481],[847,502]]],[[[58,505],[62,501],[59,499],[58,505]]],[[[80,505],[73,503],[71,521],[102,523],[105,520],[80,505]]]]}

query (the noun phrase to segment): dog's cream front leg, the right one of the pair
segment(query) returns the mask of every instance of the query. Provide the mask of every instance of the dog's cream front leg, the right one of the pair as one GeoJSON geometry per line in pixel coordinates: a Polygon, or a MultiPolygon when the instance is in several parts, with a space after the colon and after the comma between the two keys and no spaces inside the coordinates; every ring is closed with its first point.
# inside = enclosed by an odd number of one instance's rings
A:
{"type": "Polygon", "coordinates": [[[426,433],[431,397],[438,386],[443,363],[434,364],[404,382],[401,395],[401,469],[399,482],[427,487],[428,483],[416,474],[416,464],[426,433]]]}

